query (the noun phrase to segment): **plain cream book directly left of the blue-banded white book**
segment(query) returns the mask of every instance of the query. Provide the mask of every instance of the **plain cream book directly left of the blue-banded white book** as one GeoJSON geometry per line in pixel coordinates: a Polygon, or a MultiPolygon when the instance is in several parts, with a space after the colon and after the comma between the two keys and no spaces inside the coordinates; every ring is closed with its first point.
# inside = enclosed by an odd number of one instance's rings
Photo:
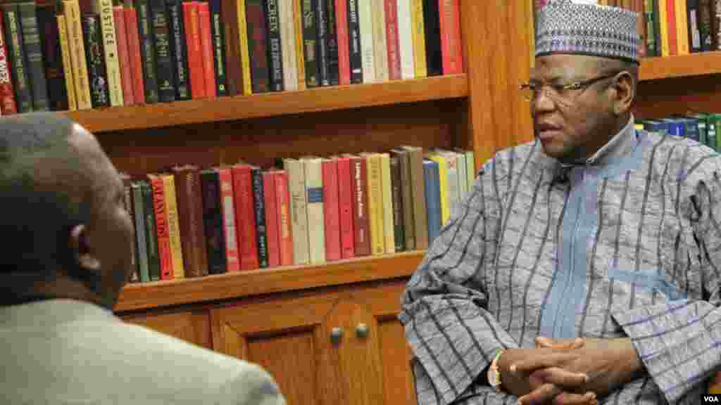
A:
{"type": "Polygon", "coordinates": [[[308,213],[306,211],[306,172],[302,161],[283,160],[288,172],[291,195],[291,230],[293,232],[293,264],[308,264],[308,213]]]}

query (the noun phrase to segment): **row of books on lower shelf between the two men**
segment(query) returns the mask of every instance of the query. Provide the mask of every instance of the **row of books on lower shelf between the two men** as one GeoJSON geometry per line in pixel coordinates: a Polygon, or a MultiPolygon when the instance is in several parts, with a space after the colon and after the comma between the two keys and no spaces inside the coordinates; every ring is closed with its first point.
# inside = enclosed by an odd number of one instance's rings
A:
{"type": "Polygon", "coordinates": [[[124,176],[135,282],[428,249],[472,190],[474,154],[402,146],[124,176]]]}

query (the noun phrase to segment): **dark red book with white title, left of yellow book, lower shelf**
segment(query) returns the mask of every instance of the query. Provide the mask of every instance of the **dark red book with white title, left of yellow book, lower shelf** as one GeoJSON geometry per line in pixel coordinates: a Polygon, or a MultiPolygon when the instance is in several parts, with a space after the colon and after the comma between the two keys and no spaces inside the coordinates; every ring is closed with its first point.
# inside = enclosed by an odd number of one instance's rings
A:
{"type": "Polygon", "coordinates": [[[368,221],[368,169],[366,159],[351,155],[350,166],[353,170],[353,244],[355,256],[371,255],[371,233],[368,221]]]}

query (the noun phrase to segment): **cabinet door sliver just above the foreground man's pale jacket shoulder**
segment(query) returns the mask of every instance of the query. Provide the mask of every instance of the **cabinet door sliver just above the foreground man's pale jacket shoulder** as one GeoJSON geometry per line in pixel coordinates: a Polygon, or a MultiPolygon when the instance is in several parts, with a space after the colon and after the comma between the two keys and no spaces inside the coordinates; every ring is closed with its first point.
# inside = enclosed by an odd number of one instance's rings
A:
{"type": "Polygon", "coordinates": [[[123,321],[146,326],[185,342],[212,349],[211,319],[207,310],[176,313],[142,313],[120,315],[123,321]]]}

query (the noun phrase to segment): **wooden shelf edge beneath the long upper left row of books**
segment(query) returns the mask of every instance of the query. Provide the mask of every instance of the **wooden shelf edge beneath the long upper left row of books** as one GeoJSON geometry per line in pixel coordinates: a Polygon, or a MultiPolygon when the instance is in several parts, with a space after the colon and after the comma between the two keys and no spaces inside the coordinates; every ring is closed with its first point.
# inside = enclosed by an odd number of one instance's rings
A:
{"type": "Polygon", "coordinates": [[[468,80],[465,74],[459,74],[64,113],[87,130],[101,133],[467,96],[468,80]]]}

